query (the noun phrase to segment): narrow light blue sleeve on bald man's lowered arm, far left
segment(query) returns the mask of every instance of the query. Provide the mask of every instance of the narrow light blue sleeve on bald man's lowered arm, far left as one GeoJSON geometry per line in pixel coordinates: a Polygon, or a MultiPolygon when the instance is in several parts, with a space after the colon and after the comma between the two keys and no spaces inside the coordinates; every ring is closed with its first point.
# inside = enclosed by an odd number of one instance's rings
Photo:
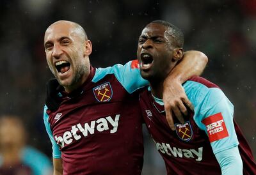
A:
{"type": "Polygon", "coordinates": [[[46,112],[47,109],[48,108],[45,105],[44,106],[44,125],[45,125],[45,128],[46,128],[46,132],[48,133],[48,135],[50,137],[50,140],[52,142],[52,157],[53,158],[61,158],[60,147],[58,146],[58,144],[56,143],[56,141],[54,140],[53,135],[52,135],[51,126],[50,126],[50,123],[48,121],[49,116],[46,112]]]}

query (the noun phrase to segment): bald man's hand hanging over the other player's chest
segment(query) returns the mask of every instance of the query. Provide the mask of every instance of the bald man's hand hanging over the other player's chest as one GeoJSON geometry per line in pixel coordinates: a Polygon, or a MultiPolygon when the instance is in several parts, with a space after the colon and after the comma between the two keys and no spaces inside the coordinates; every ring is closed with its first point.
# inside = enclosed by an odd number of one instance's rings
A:
{"type": "Polygon", "coordinates": [[[177,80],[174,80],[171,86],[169,85],[164,88],[163,102],[166,119],[172,130],[175,130],[173,114],[177,119],[179,119],[180,123],[184,123],[183,115],[188,115],[188,109],[186,106],[193,111],[192,103],[188,100],[188,96],[186,95],[184,88],[177,80]]]}

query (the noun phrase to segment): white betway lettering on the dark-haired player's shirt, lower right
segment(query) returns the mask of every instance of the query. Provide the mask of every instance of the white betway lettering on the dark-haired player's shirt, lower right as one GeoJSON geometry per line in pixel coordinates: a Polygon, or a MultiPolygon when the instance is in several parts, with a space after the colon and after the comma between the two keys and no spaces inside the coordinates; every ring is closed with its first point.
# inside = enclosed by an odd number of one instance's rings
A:
{"type": "MultiPolygon", "coordinates": [[[[153,140],[154,141],[154,140],[153,140]]],[[[175,148],[171,147],[170,144],[166,143],[156,143],[156,148],[159,152],[169,155],[169,156],[174,156],[174,157],[186,157],[186,158],[193,158],[197,162],[200,162],[203,158],[203,147],[196,149],[181,149],[181,148],[175,148]]]]}

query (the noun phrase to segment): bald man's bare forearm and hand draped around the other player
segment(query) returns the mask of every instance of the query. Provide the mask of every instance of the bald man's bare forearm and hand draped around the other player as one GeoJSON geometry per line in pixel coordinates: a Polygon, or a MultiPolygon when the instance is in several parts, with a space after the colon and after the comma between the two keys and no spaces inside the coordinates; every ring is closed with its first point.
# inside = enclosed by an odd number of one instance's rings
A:
{"type": "Polygon", "coordinates": [[[184,123],[182,114],[187,115],[188,110],[186,106],[193,110],[193,105],[188,100],[182,83],[190,77],[200,75],[206,64],[208,58],[204,53],[191,50],[184,52],[184,56],[180,63],[173,68],[168,77],[164,80],[163,102],[166,112],[166,119],[172,130],[175,130],[173,123],[173,114],[181,123],[184,123]]]}

